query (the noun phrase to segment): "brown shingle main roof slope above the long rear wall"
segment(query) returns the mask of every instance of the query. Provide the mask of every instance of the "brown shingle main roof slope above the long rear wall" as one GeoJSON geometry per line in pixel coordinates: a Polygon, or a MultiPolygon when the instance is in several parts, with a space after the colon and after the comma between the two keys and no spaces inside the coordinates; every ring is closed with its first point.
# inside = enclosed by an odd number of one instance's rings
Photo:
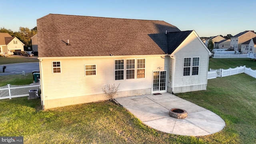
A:
{"type": "Polygon", "coordinates": [[[48,14],[37,20],[39,57],[166,54],[168,32],[158,20],[48,14]],[[158,34],[153,39],[150,34],[158,34]],[[70,43],[70,46],[64,42],[70,43]],[[157,42],[160,41],[160,42],[157,42]],[[158,46],[163,43],[165,47],[158,46]]]}

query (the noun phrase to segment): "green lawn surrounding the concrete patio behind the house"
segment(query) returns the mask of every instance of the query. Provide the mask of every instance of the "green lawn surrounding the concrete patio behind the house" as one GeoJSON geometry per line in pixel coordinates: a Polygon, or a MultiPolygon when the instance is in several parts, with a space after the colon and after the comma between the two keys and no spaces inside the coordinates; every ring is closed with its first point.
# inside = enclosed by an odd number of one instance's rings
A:
{"type": "MultiPolygon", "coordinates": [[[[215,62],[225,66],[222,60],[211,58],[210,66],[215,62]]],[[[249,63],[244,62],[242,65],[249,63]]],[[[4,80],[1,78],[0,82],[4,80]]],[[[32,76],[27,79],[31,80],[32,76]]],[[[15,83],[15,78],[10,82],[15,83]]],[[[215,112],[226,122],[222,131],[208,136],[178,136],[159,132],[110,101],[42,111],[39,99],[28,100],[27,97],[0,100],[0,136],[24,136],[24,144],[254,144],[255,86],[255,78],[238,74],[208,80],[207,90],[176,94],[215,112]]]]}

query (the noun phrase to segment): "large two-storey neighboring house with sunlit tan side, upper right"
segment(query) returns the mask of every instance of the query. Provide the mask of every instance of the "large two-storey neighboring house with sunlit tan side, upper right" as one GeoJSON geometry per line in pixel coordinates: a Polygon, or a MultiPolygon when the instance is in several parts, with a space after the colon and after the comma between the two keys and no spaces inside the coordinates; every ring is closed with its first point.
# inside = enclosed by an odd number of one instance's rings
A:
{"type": "Polygon", "coordinates": [[[241,50],[242,43],[254,38],[256,34],[253,30],[246,30],[244,32],[240,32],[231,38],[230,47],[234,48],[234,50],[241,50]]]}

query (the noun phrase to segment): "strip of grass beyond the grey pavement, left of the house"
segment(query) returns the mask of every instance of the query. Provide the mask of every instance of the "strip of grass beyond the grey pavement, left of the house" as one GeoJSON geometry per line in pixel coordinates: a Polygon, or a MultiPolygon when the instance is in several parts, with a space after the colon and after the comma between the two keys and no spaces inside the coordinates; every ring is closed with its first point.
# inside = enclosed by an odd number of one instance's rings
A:
{"type": "Polygon", "coordinates": [[[7,58],[0,56],[0,65],[2,64],[15,64],[15,63],[23,63],[23,62],[39,62],[37,59],[27,58],[25,56],[10,56],[7,58]]]}

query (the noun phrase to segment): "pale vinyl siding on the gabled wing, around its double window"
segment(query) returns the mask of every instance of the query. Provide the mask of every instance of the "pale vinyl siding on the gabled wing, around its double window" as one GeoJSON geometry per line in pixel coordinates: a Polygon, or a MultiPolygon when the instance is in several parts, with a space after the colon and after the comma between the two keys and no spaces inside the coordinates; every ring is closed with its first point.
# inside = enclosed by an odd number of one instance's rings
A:
{"type": "MultiPolygon", "coordinates": [[[[172,87],[194,86],[207,84],[208,51],[198,40],[195,34],[188,37],[184,43],[176,49],[173,54],[174,64],[174,82],[172,87]],[[184,58],[199,57],[199,74],[192,76],[183,76],[184,58]]],[[[191,59],[192,60],[192,59],[191,59]]]]}

